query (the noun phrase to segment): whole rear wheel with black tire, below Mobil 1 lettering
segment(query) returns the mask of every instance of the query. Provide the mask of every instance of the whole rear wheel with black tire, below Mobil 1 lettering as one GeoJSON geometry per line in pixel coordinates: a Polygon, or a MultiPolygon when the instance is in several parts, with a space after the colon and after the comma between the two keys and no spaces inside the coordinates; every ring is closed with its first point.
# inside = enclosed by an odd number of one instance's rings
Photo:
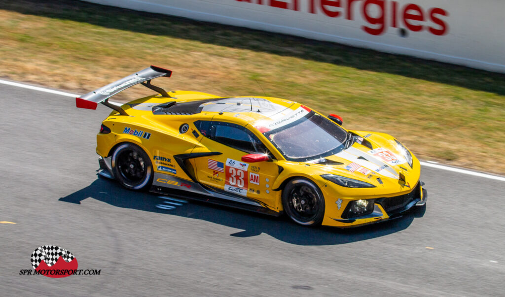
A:
{"type": "Polygon", "coordinates": [[[121,186],[129,190],[147,190],[153,183],[153,163],[143,149],[132,143],[123,143],[114,150],[112,171],[121,186]]]}

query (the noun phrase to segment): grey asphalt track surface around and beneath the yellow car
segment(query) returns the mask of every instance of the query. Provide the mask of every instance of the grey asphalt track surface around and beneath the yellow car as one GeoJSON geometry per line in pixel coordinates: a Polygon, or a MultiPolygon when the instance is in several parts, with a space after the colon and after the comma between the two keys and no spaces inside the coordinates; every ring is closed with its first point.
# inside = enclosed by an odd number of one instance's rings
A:
{"type": "Polygon", "coordinates": [[[0,85],[0,295],[504,295],[505,182],[422,168],[425,209],[362,228],[306,228],[164,199],[96,175],[110,112],[0,85]],[[19,275],[42,245],[100,275],[19,275]]]}

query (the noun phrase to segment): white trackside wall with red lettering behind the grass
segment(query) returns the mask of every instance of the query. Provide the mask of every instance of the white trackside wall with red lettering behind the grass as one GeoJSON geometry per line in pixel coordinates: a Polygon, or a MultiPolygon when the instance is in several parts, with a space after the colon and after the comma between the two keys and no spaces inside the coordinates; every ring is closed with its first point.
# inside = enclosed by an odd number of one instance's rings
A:
{"type": "Polygon", "coordinates": [[[503,0],[87,0],[505,73],[503,0]]]}

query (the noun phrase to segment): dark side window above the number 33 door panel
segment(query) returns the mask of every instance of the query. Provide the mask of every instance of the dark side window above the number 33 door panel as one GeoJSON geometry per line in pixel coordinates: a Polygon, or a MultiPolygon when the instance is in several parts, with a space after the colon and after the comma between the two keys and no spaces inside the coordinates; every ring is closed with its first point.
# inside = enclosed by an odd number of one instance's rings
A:
{"type": "Polygon", "coordinates": [[[247,153],[269,153],[258,137],[242,126],[210,121],[197,121],[194,124],[202,135],[226,146],[247,153]]]}

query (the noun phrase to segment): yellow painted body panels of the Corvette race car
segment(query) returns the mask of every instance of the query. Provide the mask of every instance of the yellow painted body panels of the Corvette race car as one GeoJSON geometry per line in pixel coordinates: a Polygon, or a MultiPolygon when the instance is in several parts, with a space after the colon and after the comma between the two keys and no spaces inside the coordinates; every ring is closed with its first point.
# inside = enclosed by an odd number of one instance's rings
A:
{"type": "MultiPolygon", "coordinates": [[[[234,123],[249,129],[273,154],[272,161],[248,163],[247,175],[243,178],[247,178],[248,180],[246,183],[246,198],[257,201],[274,212],[281,213],[283,211],[281,201],[283,185],[286,181],[296,177],[304,177],[312,181],[321,190],[325,200],[325,214],[322,224],[328,226],[350,227],[389,218],[382,206],[377,205],[382,212],[380,216],[354,220],[343,219],[342,212],[345,210],[347,204],[353,200],[396,197],[412,191],[420,191],[420,195],[422,195],[421,186],[419,185],[416,188],[420,178],[419,160],[414,155],[412,156],[412,168],[405,162],[394,164],[388,161],[387,158],[389,157],[399,160],[403,157],[402,151],[395,142],[395,139],[387,134],[351,131],[373,144],[374,149],[379,148],[378,153],[356,142],[352,145],[351,150],[346,150],[350,152],[325,157],[337,164],[325,165],[314,162],[293,162],[286,160],[277,148],[258,130],[263,122],[272,121],[271,118],[268,118],[261,112],[252,110],[246,112],[202,111],[194,114],[180,115],[153,114],[151,107],[156,104],[170,101],[190,102],[192,100],[220,98],[212,94],[189,91],[172,91],[169,94],[173,98],[156,95],[122,105],[122,108],[128,115],[120,115],[118,112],[113,111],[103,121],[103,125],[111,129],[111,133],[99,133],[97,135],[96,152],[98,155],[104,158],[109,157],[115,146],[123,142],[131,142],[141,147],[147,153],[151,162],[153,162],[155,173],[160,173],[157,176],[162,176],[161,174],[166,176],[163,178],[155,176],[155,179],[159,180],[158,183],[180,184],[181,180],[177,180],[179,182],[170,180],[170,176],[176,176],[188,182],[196,179],[198,183],[205,186],[223,189],[226,183],[225,172],[209,169],[209,159],[212,162],[223,163],[226,163],[228,159],[240,161],[241,156],[247,153],[206,138],[194,125],[194,122],[198,120],[213,120],[234,123]],[[189,130],[185,133],[180,133],[179,129],[183,124],[188,124],[189,130]],[[142,137],[147,135],[146,133],[149,134],[149,137],[142,137]],[[173,158],[174,155],[179,154],[212,151],[222,152],[222,155],[190,159],[189,162],[192,170],[189,173],[187,170],[181,168],[173,158]],[[349,154],[353,156],[360,155],[360,151],[363,154],[385,157],[385,161],[389,164],[386,166],[388,168],[375,170],[377,168],[367,168],[366,164],[362,163],[365,164],[363,165],[365,169],[361,169],[361,172],[351,172],[346,169],[345,167],[351,163],[349,158],[352,156],[349,156],[349,154]],[[381,156],[380,151],[386,151],[386,155],[382,154],[381,156]],[[279,170],[279,166],[282,170],[279,170]],[[160,168],[163,168],[163,170],[160,168]],[[375,188],[345,188],[321,177],[321,175],[328,173],[364,181],[374,185],[375,188]],[[189,176],[189,174],[193,176],[189,176]],[[377,177],[380,178],[381,182],[379,182],[377,177]]],[[[271,97],[255,98],[266,99],[275,104],[285,106],[293,112],[300,107],[307,108],[289,100],[271,97]]]]}

